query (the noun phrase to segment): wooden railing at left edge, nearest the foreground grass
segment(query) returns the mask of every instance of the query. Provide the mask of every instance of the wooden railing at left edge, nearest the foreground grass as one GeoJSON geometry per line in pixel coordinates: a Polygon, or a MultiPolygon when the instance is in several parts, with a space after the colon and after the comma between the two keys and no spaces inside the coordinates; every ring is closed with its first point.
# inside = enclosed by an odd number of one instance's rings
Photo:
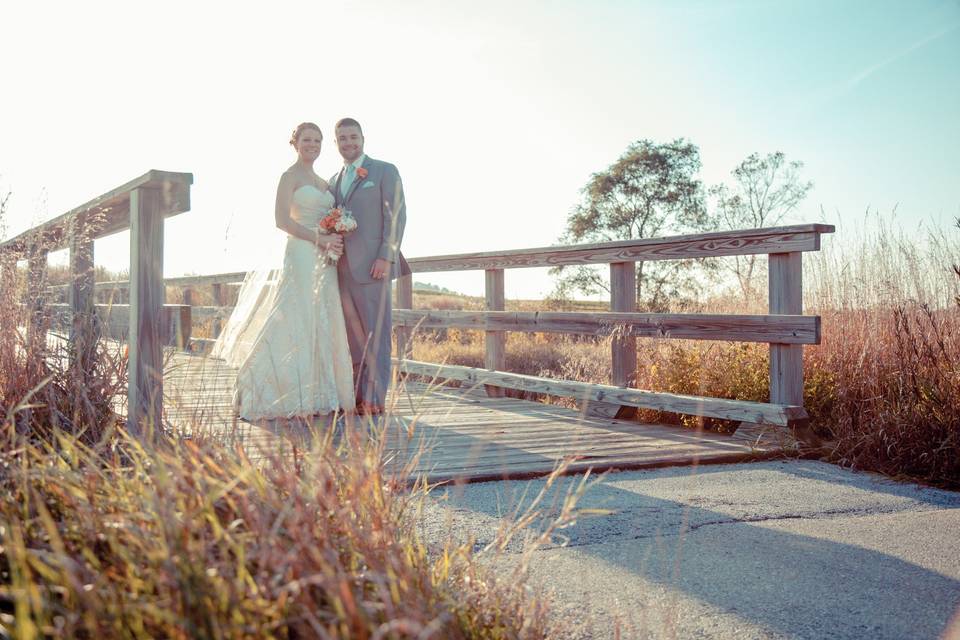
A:
{"type": "MultiPolygon", "coordinates": [[[[193,175],[151,170],[53,220],[0,244],[0,286],[15,287],[16,263],[27,261],[27,339],[45,340],[45,274],[51,251],[69,249],[66,311],[75,349],[96,332],[94,240],[129,229],[130,281],[127,426],[140,435],[162,411],[163,220],[190,209],[193,175]],[[85,337],[86,336],[86,337],[85,337]]],[[[4,300],[8,299],[6,296],[4,300]]],[[[119,311],[119,309],[118,309],[119,311]]],[[[17,327],[2,327],[16,331],[17,327]]]]}

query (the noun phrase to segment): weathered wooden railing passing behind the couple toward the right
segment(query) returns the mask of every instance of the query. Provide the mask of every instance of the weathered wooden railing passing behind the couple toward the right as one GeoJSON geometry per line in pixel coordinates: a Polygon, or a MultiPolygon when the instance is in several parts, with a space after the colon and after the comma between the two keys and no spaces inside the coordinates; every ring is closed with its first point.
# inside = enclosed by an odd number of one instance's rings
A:
{"type": "MultiPolygon", "coordinates": [[[[502,395],[504,388],[578,398],[592,414],[627,417],[637,408],[781,426],[799,426],[803,409],[803,345],[820,342],[820,318],[802,315],[802,254],[820,248],[820,236],[829,225],[811,224],[608,242],[543,247],[502,252],[430,256],[409,260],[412,271],[483,270],[486,276],[484,311],[413,309],[413,276],[400,278],[396,287],[393,322],[397,332],[399,371],[484,385],[487,393],[502,395]],[[765,315],[640,313],[636,303],[636,263],[648,260],[731,255],[769,255],[769,313],[765,315]],[[558,265],[610,265],[610,312],[504,311],[506,269],[558,265]],[[471,368],[409,359],[410,335],[415,328],[463,328],[485,332],[485,368],[471,368]],[[610,336],[612,374],[609,385],[553,380],[504,371],[505,332],[559,332],[610,336]],[[762,342],[770,346],[769,402],[683,396],[635,389],[637,338],[696,339],[762,342]]],[[[180,302],[191,316],[182,318],[189,335],[191,322],[219,323],[229,316],[229,287],[244,272],[168,278],[167,286],[182,289],[180,302]],[[210,287],[212,305],[196,306],[195,293],[210,287]],[[189,305],[189,306],[188,306],[189,305]]],[[[102,295],[124,299],[126,282],[97,283],[102,295]]],[[[170,305],[168,305],[170,306],[170,305]]],[[[195,341],[203,342],[203,341],[195,341]]]]}

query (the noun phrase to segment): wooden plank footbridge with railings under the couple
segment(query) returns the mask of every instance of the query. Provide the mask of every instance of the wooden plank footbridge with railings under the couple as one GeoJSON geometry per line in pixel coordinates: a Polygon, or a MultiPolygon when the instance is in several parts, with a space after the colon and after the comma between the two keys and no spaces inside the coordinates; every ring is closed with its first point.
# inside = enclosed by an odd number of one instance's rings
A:
{"type": "MultiPolygon", "coordinates": [[[[150,171],[0,244],[0,286],[15,286],[18,262],[25,262],[31,340],[41,339],[52,322],[69,327],[76,348],[96,331],[128,343],[125,404],[132,433],[144,433],[145,424],[202,427],[238,437],[251,450],[274,448],[283,430],[237,420],[230,403],[235,372],[203,356],[203,341],[191,337],[194,323],[217,324],[229,316],[228,289],[244,273],[163,278],[163,220],[189,210],[192,182],[191,174],[150,171]],[[130,280],[95,283],[94,240],[127,229],[130,280]],[[47,255],[63,248],[70,250],[70,284],[47,287],[47,255]],[[166,286],[180,287],[183,298],[167,302],[166,286]],[[210,288],[213,305],[193,304],[201,287],[210,288]]],[[[791,431],[807,426],[802,349],[819,343],[820,318],[802,314],[802,255],[819,250],[820,235],[833,230],[806,224],[412,258],[415,274],[483,270],[486,308],[413,309],[412,276],[398,280],[393,312],[398,382],[390,396],[391,418],[382,425],[386,450],[397,463],[421,454],[417,469],[434,480],[538,475],[571,457],[575,470],[733,461],[775,451],[791,440],[791,431]],[[768,314],[637,312],[637,262],[755,254],[769,256],[768,314]],[[589,264],[610,265],[610,312],[504,310],[507,269],[589,264]],[[411,360],[411,333],[417,327],[484,331],[485,368],[411,360]],[[505,371],[508,331],[612,336],[610,384],[505,371]],[[768,343],[770,401],[634,388],[638,338],[768,343]],[[442,384],[448,381],[460,386],[442,384]],[[579,410],[505,397],[505,388],[573,398],[579,410]],[[726,436],[641,424],[632,420],[637,408],[734,420],[742,426],[737,435],[726,436]]]]}

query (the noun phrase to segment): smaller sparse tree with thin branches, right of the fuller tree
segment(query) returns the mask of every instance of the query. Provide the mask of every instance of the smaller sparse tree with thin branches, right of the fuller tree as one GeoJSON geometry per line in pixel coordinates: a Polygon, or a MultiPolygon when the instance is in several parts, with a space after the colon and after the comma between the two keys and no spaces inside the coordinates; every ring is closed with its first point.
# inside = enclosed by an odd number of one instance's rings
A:
{"type": "MultiPolygon", "coordinates": [[[[803,163],[787,162],[781,151],[760,156],[751,153],[731,172],[732,186],[718,184],[710,188],[715,202],[715,224],[721,230],[772,227],[807,197],[813,183],[800,178],[803,163]]],[[[729,269],[746,299],[758,290],[758,256],[734,256],[729,269]]]]}

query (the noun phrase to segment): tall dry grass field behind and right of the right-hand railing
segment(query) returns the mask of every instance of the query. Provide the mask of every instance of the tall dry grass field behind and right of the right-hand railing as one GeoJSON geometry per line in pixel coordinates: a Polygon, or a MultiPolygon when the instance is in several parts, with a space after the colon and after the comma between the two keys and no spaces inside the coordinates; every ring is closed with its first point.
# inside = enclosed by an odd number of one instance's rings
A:
{"type": "MultiPolygon", "coordinates": [[[[907,233],[894,219],[880,216],[855,227],[860,231],[841,227],[835,237],[824,238],[821,251],[804,255],[805,312],[822,318],[821,344],[804,349],[804,406],[814,429],[830,441],[829,459],[960,487],[960,272],[955,267],[960,228],[907,233]]],[[[419,302],[429,303],[429,297],[419,302]]],[[[452,299],[444,304],[459,308],[452,299]]],[[[561,302],[551,304],[556,308],[561,302]]],[[[482,300],[460,305],[481,308],[482,300]]],[[[508,301],[507,306],[534,310],[543,305],[508,301]]],[[[765,313],[766,300],[718,293],[700,310],[765,313]]],[[[769,399],[767,345],[641,339],[637,352],[640,388],[769,399]]],[[[470,366],[482,366],[483,353],[481,333],[455,329],[421,331],[413,346],[418,360],[470,366]]],[[[609,354],[609,339],[512,333],[506,367],[609,383],[609,354]]],[[[640,419],[703,424],[691,416],[655,412],[641,412],[640,419]]],[[[730,430],[736,425],[707,421],[707,426],[730,430]]]]}

